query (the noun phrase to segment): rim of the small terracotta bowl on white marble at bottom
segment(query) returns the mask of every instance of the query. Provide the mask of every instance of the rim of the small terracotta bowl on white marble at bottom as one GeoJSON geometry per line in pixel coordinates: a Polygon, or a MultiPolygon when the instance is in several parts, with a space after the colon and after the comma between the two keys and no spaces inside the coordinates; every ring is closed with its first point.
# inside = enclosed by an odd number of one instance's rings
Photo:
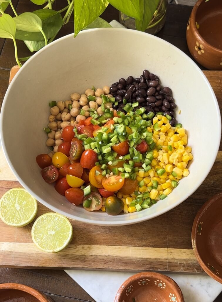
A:
{"type": "Polygon", "coordinates": [[[179,285],[170,277],[160,274],[160,273],[156,273],[156,272],[141,272],[141,273],[137,273],[135,275],[130,276],[129,278],[127,278],[119,287],[116,296],[115,296],[115,300],[114,302],[120,302],[120,296],[122,294],[122,292],[125,290],[125,288],[130,285],[134,280],[139,279],[139,278],[155,278],[155,279],[160,279],[162,281],[167,281],[168,283],[171,283],[175,289],[175,295],[176,297],[178,297],[179,299],[178,302],[184,302],[184,298],[183,298],[183,293],[179,287],[179,285]]]}

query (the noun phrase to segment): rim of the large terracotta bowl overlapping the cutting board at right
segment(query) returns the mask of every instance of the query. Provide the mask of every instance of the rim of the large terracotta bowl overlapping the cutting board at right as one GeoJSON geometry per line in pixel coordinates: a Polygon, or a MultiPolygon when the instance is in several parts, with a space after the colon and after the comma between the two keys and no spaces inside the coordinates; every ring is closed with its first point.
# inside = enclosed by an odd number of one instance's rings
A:
{"type": "Polygon", "coordinates": [[[207,265],[203,262],[201,255],[199,253],[199,250],[197,248],[196,242],[197,242],[197,227],[198,227],[198,221],[199,219],[205,214],[206,211],[208,211],[209,207],[214,203],[217,202],[219,199],[222,199],[222,192],[219,194],[214,195],[211,197],[208,201],[205,202],[205,204],[202,205],[202,207],[199,209],[199,211],[196,214],[196,217],[194,218],[193,221],[193,226],[192,226],[192,232],[191,232],[191,242],[192,242],[192,247],[193,247],[193,252],[196,256],[196,259],[199,263],[199,265],[202,267],[202,269],[214,280],[217,282],[222,283],[222,278],[214,274],[210,268],[208,268],[207,265]]]}

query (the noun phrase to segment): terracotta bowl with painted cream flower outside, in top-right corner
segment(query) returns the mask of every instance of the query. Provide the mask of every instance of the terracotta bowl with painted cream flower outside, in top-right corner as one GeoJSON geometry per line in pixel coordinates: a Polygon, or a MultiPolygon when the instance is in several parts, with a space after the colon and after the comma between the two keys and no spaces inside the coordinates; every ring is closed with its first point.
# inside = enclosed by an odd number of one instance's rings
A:
{"type": "Polygon", "coordinates": [[[202,66],[222,70],[222,1],[198,0],[187,23],[187,45],[202,66]]]}

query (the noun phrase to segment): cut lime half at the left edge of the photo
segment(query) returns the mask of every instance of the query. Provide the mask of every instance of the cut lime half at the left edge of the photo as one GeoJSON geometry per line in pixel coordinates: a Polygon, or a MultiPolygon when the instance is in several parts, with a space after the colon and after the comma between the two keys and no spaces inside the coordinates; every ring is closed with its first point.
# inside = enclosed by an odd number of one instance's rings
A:
{"type": "Polygon", "coordinates": [[[0,199],[0,218],[10,226],[26,226],[37,213],[37,201],[24,188],[7,191],[0,199]]]}

